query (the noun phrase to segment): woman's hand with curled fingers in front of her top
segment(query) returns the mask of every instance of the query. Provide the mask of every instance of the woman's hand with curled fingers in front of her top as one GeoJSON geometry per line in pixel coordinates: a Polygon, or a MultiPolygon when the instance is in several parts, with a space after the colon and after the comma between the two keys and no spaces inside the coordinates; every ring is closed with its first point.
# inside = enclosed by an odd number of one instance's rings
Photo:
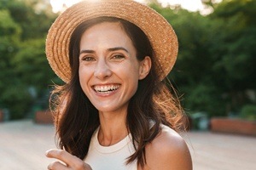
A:
{"type": "Polygon", "coordinates": [[[49,158],[55,158],[60,161],[50,163],[48,169],[50,170],[92,170],[90,165],[80,160],[77,156],[69,154],[65,150],[48,150],[45,155],[49,158]],[[64,163],[61,163],[64,162],[64,163]]]}

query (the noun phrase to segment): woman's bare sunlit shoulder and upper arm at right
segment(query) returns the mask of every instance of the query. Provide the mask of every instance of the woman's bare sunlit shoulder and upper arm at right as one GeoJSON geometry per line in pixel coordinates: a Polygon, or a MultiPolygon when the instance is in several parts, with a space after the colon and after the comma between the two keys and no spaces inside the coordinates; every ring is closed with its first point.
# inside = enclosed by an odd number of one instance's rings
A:
{"type": "Polygon", "coordinates": [[[191,170],[189,148],[183,138],[172,128],[162,126],[161,133],[146,147],[145,169],[191,170]]]}

